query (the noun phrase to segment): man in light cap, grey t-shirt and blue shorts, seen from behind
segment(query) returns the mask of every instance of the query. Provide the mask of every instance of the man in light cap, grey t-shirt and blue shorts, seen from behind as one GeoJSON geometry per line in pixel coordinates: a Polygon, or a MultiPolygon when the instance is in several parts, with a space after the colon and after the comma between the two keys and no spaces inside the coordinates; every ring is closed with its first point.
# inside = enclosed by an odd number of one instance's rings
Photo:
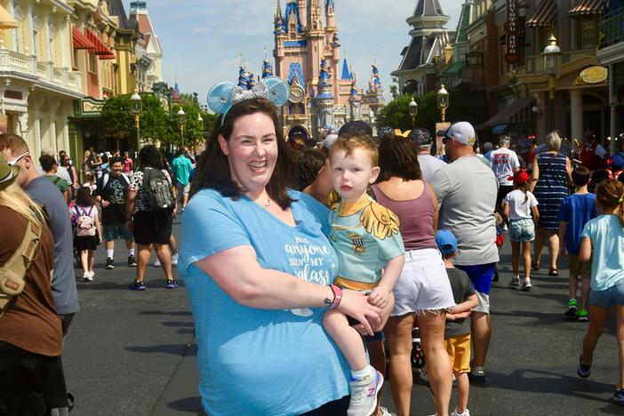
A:
{"type": "Polygon", "coordinates": [[[492,336],[490,287],[494,265],[499,261],[494,220],[499,182],[492,169],[475,155],[472,124],[455,123],[437,135],[444,138],[446,155],[452,162],[436,171],[431,181],[441,205],[438,229],[448,229],[457,237],[458,254],[453,263],[468,274],[479,300],[471,315],[475,355],[471,376],[474,381],[484,381],[485,356],[492,336]]]}

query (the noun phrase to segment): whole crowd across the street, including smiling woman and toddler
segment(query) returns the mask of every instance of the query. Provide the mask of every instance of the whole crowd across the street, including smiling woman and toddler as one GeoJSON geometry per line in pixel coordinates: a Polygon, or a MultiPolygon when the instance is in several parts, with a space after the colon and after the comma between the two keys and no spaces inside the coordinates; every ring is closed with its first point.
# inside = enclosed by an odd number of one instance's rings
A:
{"type": "MultiPolygon", "coordinates": [[[[0,212],[11,227],[0,235],[0,288],[21,285],[0,302],[0,414],[67,414],[61,356],[79,310],[73,262],[91,282],[102,242],[104,268],[116,267],[116,240],[136,268],[131,290],[147,289],[152,250],[168,289],[178,287],[179,261],[209,414],[383,416],[389,380],[397,414],[409,415],[418,327],[436,414],[468,416],[469,380],[486,379],[504,236],[509,285],[524,292],[536,289],[531,272],[545,245],[550,276],[567,256],[563,315],[588,322],[580,377],[613,307],[624,333],[624,175],[593,133],[564,150],[550,132],[522,155],[515,140],[485,146],[458,122],[436,132],[441,158],[427,129],[380,127],[373,137],[357,121],[325,127],[308,146],[284,140],[277,100],[215,100],[227,107],[198,160],[148,145],[137,160],[89,149],[75,164],[66,152],[36,158],[20,136],[0,135],[0,212]],[[14,266],[28,246],[36,250],[23,255],[26,268],[14,266]]],[[[624,404],[618,340],[613,399],[624,404]]]]}

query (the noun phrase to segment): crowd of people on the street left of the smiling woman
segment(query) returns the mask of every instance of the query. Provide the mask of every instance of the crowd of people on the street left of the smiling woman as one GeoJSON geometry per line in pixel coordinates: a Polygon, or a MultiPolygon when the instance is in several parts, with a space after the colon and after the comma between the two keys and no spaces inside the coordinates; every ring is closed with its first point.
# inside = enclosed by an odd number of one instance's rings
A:
{"type": "Polygon", "coordinates": [[[115,241],[125,241],[128,267],[137,270],[130,289],[145,290],[152,247],[165,287],[178,286],[169,252],[171,246],[177,257],[172,218],[177,200],[186,204],[195,159],[186,149],[176,155],[186,160],[181,163],[166,156],[151,145],[136,162],[128,152],[89,149],[76,169],[64,151],[44,149],[36,158],[20,136],[0,134],[0,211],[7,220],[0,233],[0,414],[56,416],[72,409],[62,344],[80,309],[76,278],[93,281],[93,252],[102,241],[105,269],[115,267],[115,241]]]}

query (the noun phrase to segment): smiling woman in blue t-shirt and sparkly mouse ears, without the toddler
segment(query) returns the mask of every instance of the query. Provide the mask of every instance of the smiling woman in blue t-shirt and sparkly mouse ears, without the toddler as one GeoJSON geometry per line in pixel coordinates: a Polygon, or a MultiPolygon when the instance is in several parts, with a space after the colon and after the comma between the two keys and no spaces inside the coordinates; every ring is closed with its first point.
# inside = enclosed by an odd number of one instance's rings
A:
{"type": "Polygon", "coordinates": [[[370,334],[382,327],[364,294],[329,286],[338,267],[329,210],[286,188],[281,83],[212,89],[222,116],[182,219],[179,267],[211,415],[345,414],[348,365],[323,330],[324,312],[336,308],[370,334]]]}

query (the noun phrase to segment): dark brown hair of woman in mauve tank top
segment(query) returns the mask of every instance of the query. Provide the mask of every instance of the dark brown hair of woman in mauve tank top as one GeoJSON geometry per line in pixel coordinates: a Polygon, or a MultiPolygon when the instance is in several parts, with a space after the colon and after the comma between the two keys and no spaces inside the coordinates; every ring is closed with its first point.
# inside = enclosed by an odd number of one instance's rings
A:
{"type": "Polygon", "coordinates": [[[379,152],[381,172],[377,183],[395,176],[403,180],[422,179],[418,148],[412,140],[387,134],[381,138],[379,152]]]}

